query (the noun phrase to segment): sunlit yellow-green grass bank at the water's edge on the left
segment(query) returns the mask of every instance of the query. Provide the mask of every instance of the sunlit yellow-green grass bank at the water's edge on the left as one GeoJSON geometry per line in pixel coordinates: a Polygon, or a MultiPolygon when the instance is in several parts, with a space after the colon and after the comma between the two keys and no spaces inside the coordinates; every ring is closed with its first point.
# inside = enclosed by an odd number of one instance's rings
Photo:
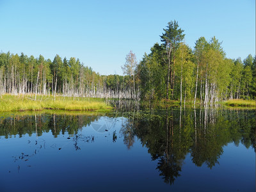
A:
{"type": "Polygon", "coordinates": [[[68,111],[106,111],[111,109],[104,99],[82,97],[54,97],[37,95],[2,95],[0,111],[40,111],[43,109],[68,111]]]}

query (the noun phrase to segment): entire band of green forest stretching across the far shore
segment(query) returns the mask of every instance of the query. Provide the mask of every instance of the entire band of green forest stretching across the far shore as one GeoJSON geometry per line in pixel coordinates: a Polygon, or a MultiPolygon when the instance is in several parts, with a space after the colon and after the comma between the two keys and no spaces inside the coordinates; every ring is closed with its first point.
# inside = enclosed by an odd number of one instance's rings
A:
{"type": "Polygon", "coordinates": [[[99,97],[134,100],[190,100],[213,104],[228,99],[255,99],[255,56],[226,57],[221,42],[201,36],[191,48],[177,21],[163,29],[161,44],[137,61],[130,51],[124,76],[101,76],[79,59],[51,61],[10,52],[0,53],[0,94],[33,93],[63,97],[99,97]]]}

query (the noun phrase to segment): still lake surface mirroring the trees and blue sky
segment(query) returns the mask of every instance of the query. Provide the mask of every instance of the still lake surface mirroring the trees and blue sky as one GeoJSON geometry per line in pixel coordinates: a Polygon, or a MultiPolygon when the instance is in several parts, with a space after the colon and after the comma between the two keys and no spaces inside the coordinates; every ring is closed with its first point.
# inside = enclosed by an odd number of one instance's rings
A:
{"type": "Polygon", "coordinates": [[[0,115],[0,191],[255,191],[255,111],[0,115]]]}

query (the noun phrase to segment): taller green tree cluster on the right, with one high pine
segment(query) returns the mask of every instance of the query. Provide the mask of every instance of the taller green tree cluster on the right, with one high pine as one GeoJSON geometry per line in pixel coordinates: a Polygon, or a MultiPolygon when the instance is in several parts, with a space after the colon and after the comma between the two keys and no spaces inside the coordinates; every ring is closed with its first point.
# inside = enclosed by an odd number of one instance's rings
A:
{"type": "Polygon", "coordinates": [[[161,37],[134,70],[140,97],[147,100],[196,100],[212,104],[227,99],[255,99],[255,57],[231,60],[214,36],[198,38],[191,49],[178,22],[168,22],[161,37]]]}

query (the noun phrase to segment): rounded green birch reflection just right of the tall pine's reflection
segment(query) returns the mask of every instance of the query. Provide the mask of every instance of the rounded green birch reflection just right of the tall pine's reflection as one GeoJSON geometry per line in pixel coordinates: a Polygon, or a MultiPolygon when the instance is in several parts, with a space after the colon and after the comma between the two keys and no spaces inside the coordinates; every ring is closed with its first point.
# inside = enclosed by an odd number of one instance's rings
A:
{"type": "MultiPolygon", "coordinates": [[[[194,109],[195,118],[196,111],[194,109]]],[[[200,115],[202,109],[200,109],[200,115]]],[[[218,118],[216,122],[216,110],[204,109],[204,122],[200,122],[196,129],[195,143],[191,147],[191,157],[196,166],[207,164],[209,168],[218,163],[218,159],[223,153],[223,145],[227,145],[227,122],[223,118],[218,118]],[[219,125],[221,122],[222,127],[219,125]],[[221,127],[221,128],[220,128],[221,127]]],[[[195,120],[194,120],[195,121],[195,120]]]]}

